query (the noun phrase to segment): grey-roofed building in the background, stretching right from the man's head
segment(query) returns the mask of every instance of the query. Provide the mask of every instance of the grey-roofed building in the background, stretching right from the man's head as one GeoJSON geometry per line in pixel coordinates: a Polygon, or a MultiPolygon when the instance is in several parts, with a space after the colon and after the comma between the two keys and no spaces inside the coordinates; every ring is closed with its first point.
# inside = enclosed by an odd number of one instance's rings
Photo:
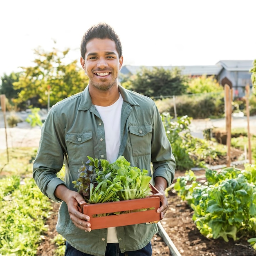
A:
{"type": "MultiPolygon", "coordinates": [[[[125,65],[121,69],[121,74],[136,74],[142,66],[125,65]]],[[[153,66],[146,66],[148,69],[153,66]]],[[[160,67],[160,66],[157,66],[160,67]]],[[[252,73],[249,70],[253,67],[251,61],[219,61],[216,65],[207,66],[161,66],[164,69],[173,69],[177,67],[183,75],[188,76],[214,76],[221,85],[229,81],[233,88],[234,97],[243,97],[245,95],[245,86],[252,88],[252,73]]]]}

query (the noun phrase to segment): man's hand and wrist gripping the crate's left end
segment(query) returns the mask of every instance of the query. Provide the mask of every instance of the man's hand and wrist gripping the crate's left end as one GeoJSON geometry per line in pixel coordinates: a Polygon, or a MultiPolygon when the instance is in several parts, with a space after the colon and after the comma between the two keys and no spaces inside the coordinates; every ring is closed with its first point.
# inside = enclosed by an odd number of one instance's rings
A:
{"type": "Polygon", "coordinates": [[[80,205],[84,204],[85,202],[82,195],[80,195],[76,191],[68,189],[63,184],[56,187],[54,195],[57,198],[63,200],[67,204],[68,213],[74,225],[79,229],[85,230],[85,232],[90,232],[90,217],[88,215],[83,214],[82,209],[80,207],[80,205]]]}

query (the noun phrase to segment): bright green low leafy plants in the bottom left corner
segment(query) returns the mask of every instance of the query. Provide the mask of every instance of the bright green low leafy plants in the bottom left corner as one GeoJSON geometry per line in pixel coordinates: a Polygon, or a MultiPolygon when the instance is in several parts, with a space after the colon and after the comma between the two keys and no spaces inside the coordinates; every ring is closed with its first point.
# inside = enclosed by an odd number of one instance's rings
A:
{"type": "Polygon", "coordinates": [[[36,255],[49,216],[51,202],[32,178],[12,176],[0,180],[0,254],[36,255]]]}

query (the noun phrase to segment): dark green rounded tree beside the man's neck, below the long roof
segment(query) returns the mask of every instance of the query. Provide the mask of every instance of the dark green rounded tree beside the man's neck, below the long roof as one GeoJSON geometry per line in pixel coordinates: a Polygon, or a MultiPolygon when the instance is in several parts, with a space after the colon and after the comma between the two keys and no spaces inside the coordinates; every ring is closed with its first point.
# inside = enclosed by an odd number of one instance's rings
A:
{"type": "Polygon", "coordinates": [[[148,97],[158,97],[184,93],[185,81],[185,76],[177,68],[166,70],[163,67],[141,67],[136,75],[127,78],[122,85],[148,97]]]}

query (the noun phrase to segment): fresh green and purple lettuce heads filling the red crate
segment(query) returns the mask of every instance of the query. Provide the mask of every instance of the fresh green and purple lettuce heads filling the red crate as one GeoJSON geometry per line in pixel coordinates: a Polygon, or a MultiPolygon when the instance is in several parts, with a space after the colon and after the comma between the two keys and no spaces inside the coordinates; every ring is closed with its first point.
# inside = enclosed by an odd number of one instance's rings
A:
{"type": "Polygon", "coordinates": [[[79,168],[74,188],[92,204],[146,198],[150,195],[148,171],[130,166],[124,156],[109,164],[106,159],[93,159],[79,168]]]}

